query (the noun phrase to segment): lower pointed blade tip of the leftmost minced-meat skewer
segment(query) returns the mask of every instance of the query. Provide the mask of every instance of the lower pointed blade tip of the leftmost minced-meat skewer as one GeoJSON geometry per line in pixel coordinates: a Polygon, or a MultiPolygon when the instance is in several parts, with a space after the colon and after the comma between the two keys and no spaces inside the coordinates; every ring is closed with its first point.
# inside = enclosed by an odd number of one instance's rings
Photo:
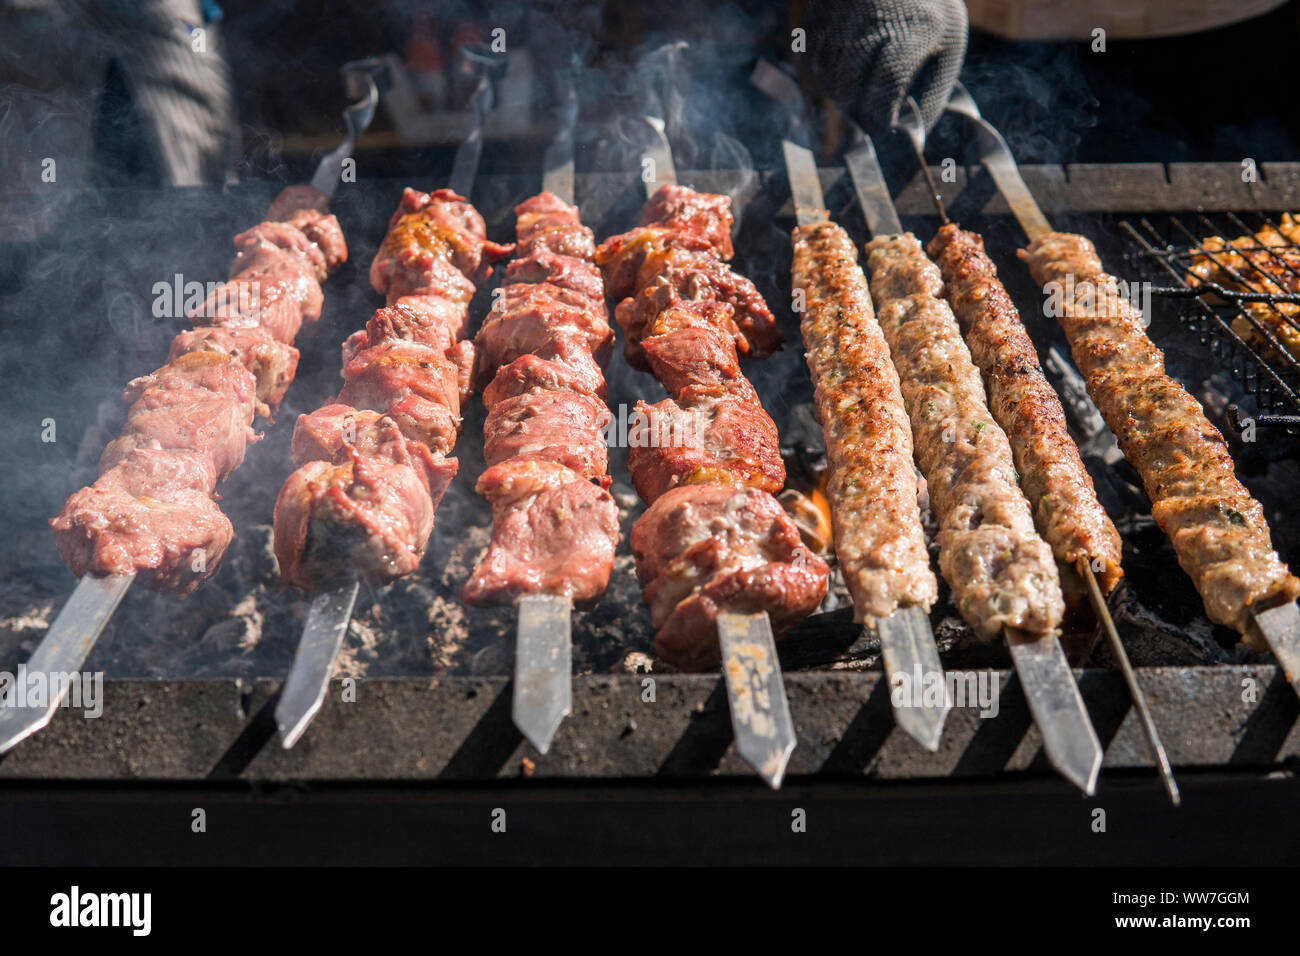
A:
{"type": "Polygon", "coordinates": [[[880,635],[880,657],[892,691],[902,683],[910,688],[909,700],[894,705],[894,722],[918,744],[933,753],[944,735],[944,721],[953,709],[944,683],[944,665],[939,659],[930,617],[920,607],[900,607],[876,624],[880,635]],[[939,702],[927,702],[927,684],[939,680],[942,688],[939,702]]]}

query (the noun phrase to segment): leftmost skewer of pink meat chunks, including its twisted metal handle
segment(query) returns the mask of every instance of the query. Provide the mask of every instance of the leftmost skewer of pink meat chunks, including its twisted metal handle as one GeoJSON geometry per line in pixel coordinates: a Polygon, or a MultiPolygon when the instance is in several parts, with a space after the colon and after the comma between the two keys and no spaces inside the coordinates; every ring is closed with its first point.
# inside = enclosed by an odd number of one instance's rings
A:
{"type": "MultiPolygon", "coordinates": [[[[283,190],[266,220],[235,238],[230,280],[191,316],[195,328],[173,339],[168,364],[131,382],[126,432],[105,449],[96,483],[51,522],[81,581],[29,670],[79,670],[138,578],[188,593],[217,571],[234,529],[212,492],[240,464],[254,414],[269,419],[278,407],[298,368],[292,341],[320,316],[318,282],[347,259],[329,199],[342,159],[374,116],[376,66],[343,66],[348,94],[359,96],[344,109],[343,142],[311,186],[283,190]],[[182,406],[188,411],[178,418],[182,406]]],[[[5,708],[0,753],[49,723],[61,700],[5,708]]]]}

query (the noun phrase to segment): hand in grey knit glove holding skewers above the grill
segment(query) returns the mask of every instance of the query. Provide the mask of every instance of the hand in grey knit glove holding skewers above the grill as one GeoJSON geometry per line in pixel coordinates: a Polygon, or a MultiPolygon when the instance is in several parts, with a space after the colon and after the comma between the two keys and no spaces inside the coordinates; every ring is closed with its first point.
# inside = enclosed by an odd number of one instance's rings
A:
{"type": "Polygon", "coordinates": [[[812,0],[806,29],[822,88],[874,137],[909,95],[932,129],[966,59],[962,0],[812,0]]]}

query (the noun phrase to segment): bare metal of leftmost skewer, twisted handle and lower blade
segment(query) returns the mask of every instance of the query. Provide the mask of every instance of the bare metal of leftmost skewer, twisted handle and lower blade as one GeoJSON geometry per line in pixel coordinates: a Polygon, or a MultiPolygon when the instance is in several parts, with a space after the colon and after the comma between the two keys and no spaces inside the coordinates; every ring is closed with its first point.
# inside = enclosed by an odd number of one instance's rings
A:
{"type": "MultiPolygon", "coordinates": [[[[342,68],[347,94],[356,99],[343,109],[347,124],[343,142],[321,157],[312,176],[312,187],[325,196],[334,195],[343,160],[352,155],[358,137],[374,118],[380,99],[376,74],[381,68],[380,60],[355,60],[342,68]]],[[[135,574],[82,575],[68,604],[27,659],[27,669],[42,674],[79,671],[135,578],[135,574]]],[[[62,693],[52,696],[44,706],[4,708],[4,713],[0,713],[0,753],[8,752],[49,723],[68,693],[65,682],[61,687],[62,693]]]]}

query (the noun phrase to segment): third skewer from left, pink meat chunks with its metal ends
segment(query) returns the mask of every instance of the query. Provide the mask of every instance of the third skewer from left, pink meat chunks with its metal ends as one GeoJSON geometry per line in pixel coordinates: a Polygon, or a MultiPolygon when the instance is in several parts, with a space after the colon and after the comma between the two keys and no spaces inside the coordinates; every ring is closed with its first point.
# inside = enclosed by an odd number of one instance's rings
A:
{"type": "Polygon", "coordinates": [[[514,721],[540,753],[572,704],[575,602],[610,583],[619,507],[601,371],[614,342],[592,230],[573,199],[576,103],[546,152],[543,191],[515,207],[516,259],[474,337],[491,544],[462,591],[468,605],[517,602],[514,721]]]}

